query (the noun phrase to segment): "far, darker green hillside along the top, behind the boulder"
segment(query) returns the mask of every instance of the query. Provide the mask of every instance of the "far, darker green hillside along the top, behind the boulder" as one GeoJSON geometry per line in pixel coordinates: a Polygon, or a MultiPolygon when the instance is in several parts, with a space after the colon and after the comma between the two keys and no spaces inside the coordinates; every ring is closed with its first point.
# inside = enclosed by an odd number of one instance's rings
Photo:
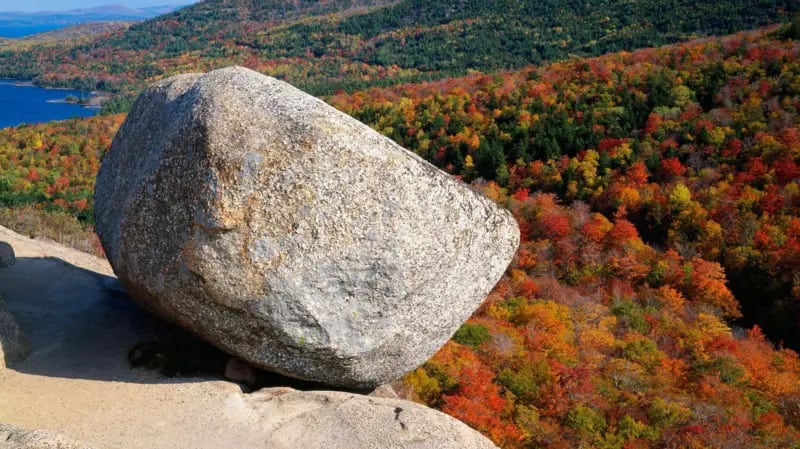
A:
{"type": "Polygon", "coordinates": [[[89,43],[0,51],[0,76],[129,92],[238,64],[330,94],[731,33],[798,10],[788,0],[207,0],[89,43]]]}

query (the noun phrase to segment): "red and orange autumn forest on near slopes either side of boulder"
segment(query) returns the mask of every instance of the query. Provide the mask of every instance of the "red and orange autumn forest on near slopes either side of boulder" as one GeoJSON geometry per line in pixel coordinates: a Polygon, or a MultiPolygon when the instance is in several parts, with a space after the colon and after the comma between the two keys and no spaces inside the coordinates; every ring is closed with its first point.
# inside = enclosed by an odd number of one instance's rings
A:
{"type": "MultiPolygon", "coordinates": [[[[799,39],[796,21],[328,96],[522,229],[406,393],[504,448],[800,448],[799,39]]],[[[0,220],[88,220],[121,120],[0,131],[0,220]]]]}

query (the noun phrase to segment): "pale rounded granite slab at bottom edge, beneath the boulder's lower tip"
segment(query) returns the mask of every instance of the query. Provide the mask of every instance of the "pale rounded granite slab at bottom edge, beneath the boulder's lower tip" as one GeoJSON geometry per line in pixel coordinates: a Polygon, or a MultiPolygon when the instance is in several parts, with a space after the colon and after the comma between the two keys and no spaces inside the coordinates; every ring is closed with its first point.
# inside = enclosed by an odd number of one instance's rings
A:
{"type": "Polygon", "coordinates": [[[270,388],[245,401],[268,449],[496,449],[457,419],[401,399],[270,388]]]}

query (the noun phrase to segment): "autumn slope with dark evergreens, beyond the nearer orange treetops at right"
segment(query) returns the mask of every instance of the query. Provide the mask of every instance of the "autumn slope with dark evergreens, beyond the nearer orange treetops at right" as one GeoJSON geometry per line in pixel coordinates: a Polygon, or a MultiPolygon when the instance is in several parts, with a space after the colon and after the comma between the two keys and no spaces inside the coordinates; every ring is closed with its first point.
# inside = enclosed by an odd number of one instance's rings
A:
{"type": "Polygon", "coordinates": [[[800,347],[800,49],[781,33],[331,102],[467,181],[582,201],[720,262],[745,314],[800,347]]]}

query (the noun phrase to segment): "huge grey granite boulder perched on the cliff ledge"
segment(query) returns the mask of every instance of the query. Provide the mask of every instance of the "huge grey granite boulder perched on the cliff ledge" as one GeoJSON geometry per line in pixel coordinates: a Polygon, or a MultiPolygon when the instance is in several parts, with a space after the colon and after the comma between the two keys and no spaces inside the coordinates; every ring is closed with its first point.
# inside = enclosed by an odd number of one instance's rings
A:
{"type": "Polygon", "coordinates": [[[351,388],[433,355],[519,243],[489,199],[238,67],[145,90],[95,211],[115,273],[150,311],[255,366],[351,388]]]}

